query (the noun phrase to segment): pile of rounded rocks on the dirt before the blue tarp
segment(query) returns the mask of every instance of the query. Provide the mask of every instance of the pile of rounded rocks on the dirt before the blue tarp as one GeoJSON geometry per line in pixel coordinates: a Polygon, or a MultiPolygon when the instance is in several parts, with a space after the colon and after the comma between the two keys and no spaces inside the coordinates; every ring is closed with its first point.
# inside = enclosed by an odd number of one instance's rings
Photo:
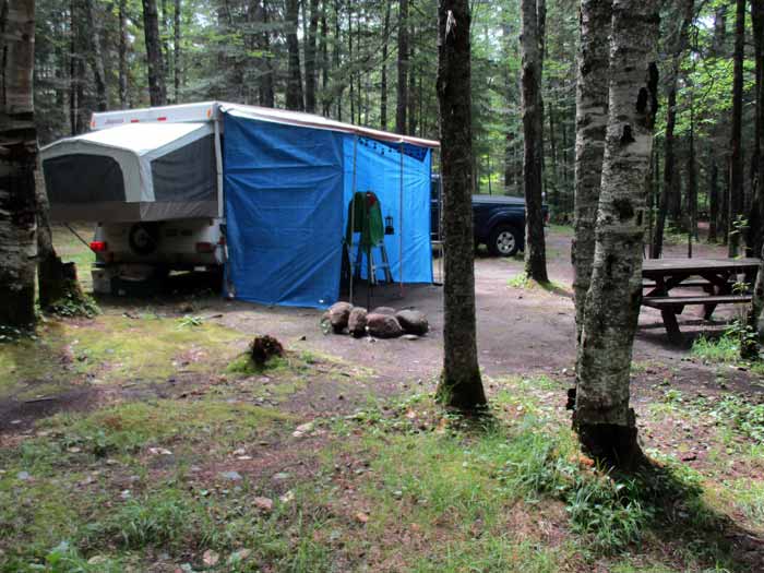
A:
{"type": "Polygon", "coordinates": [[[430,330],[427,317],[418,310],[396,311],[390,307],[377,307],[371,312],[349,302],[336,302],[321,318],[324,333],[348,333],[356,338],[397,338],[402,335],[422,336],[430,330]]]}

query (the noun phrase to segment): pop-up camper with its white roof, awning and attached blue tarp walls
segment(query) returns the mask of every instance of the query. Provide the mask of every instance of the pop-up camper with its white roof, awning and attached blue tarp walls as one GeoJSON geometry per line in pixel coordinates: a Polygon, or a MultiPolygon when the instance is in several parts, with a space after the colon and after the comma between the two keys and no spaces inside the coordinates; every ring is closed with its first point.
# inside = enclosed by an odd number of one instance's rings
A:
{"type": "Polygon", "coordinates": [[[225,264],[237,298],[325,307],[339,296],[343,255],[358,260],[346,231],[359,192],[387,227],[373,276],[432,280],[438,142],[222,103],[95,114],[91,128],[41,159],[51,218],[97,224],[97,288],[130,264],[225,264]]]}

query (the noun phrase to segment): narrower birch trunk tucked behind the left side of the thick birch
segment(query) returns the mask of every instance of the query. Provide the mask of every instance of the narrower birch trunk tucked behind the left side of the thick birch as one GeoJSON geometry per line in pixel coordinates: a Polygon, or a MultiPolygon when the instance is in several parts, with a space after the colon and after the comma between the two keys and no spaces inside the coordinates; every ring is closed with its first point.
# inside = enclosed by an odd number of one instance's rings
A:
{"type": "Polygon", "coordinates": [[[575,232],[572,244],[576,341],[592,278],[595,222],[608,124],[608,53],[612,0],[581,2],[581,47],[576,85],[575,232]]]}

